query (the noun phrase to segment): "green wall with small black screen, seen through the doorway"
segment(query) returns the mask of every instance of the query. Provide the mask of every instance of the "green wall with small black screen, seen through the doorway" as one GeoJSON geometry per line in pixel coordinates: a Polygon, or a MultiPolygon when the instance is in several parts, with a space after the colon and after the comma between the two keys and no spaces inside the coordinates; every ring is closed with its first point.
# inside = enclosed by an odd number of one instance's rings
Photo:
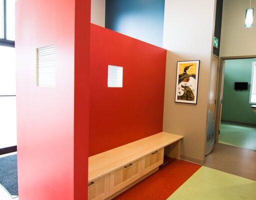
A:
{"type": "Polygon", "coordinates": [[[256,59],[225,60],[221,120],[256,125],[256,113],[249,104],[252,61],[256,59]],[[235,91],[234,82],[248,82],[248,90],[235,91]]]}

